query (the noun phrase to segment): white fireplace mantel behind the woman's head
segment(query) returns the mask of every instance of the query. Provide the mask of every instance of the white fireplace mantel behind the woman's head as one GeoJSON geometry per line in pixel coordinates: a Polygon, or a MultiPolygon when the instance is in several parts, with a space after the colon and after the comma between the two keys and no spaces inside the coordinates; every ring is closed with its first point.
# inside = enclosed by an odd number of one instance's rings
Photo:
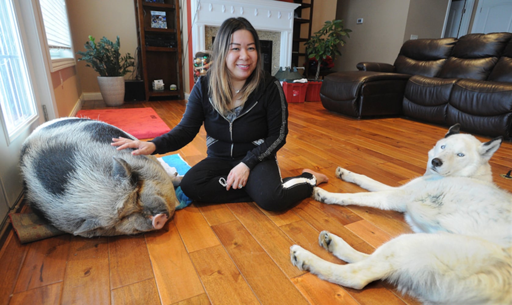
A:
{"type": "Polygon", "coordinates": [[[193,54],[205,49],[205,27],[219,27],[230,17],[244,17],[254,29],[281,33],[280,67],[290,67],[293,11],[299,4],[276,0],[191,0],[193,54]]]}

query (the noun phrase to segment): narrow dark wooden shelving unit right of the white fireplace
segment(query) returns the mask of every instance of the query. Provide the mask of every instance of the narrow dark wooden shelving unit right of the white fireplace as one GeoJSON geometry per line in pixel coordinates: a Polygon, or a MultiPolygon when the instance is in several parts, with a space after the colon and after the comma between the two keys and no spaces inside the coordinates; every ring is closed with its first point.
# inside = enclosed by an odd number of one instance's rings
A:
{"type": "MultiPolygon", "coordinates": [[[[304,51],[304,42],[311,37],[311,19],[313,18],[313,0],[304,2],[303,0],[294,0],[301,6],[295,9],[295,18],[293,19],[293,46],[291,54],[292,67],[302,67],[307,63],[306,53],[304,51]],[[304,11],[306,9],[306,11],[304,11]],[[308,14],[309,11],[309,14],[308,14]],[[307,26],[303,26],[303,25],[307,26]],[[307,29],[304,29],[306,28],[307,29]]],[[[305,65],[304,75],[308,75],[309,65],[305,65]]]]}

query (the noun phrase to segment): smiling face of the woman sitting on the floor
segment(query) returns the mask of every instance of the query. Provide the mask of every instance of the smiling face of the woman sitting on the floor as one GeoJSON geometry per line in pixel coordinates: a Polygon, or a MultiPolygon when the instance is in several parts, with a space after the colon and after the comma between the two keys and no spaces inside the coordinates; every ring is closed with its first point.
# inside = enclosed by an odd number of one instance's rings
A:
{"type": "Polygon", "coordinates": [[[258,51],[251,32],[238,30],[231,35],[226,66],[232,81],[244,81],[258,64],[258,51]]]}

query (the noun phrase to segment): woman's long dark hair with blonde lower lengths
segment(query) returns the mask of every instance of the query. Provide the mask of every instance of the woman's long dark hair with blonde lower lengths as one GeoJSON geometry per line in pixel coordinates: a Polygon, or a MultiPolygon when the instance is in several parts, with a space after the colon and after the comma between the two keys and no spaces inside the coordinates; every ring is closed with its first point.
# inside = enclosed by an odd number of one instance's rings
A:
{"type": "Polygon", "coordinates": [[[243,88],[239,92],[242,104],[245,103],[249,95],[258,88],[260,81],[263,79],[263,68],[261,63],[261,48],[258,33],[243,17],[229,18],[224,20],[219,32],[215,37],[213,50],[210,54],[212,65],[208,69],[209,74],[209,88],[208,95],[214,104],[216,110],[225,115],[229,110],[229,104],[233,99],[232,89],[229,78],[229,70],[226,67],[226,56],[229,52],[229,45],[231,43],[231,35],[238,30],[247,30],[254,38],[255,48],[258,52],[258,60],[256,68],[245,81],[243,88]]]}

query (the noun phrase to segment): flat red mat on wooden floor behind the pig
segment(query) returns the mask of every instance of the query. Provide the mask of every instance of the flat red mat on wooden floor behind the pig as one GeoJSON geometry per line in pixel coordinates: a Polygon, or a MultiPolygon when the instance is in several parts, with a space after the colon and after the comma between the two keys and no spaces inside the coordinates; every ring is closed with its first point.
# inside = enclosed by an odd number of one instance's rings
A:
{"type": "Polygon", "coordinates": [[[112,124],[137,139],[155,138],[170,130],[150,107],[80,110],[76,116],[112,124]]]}

